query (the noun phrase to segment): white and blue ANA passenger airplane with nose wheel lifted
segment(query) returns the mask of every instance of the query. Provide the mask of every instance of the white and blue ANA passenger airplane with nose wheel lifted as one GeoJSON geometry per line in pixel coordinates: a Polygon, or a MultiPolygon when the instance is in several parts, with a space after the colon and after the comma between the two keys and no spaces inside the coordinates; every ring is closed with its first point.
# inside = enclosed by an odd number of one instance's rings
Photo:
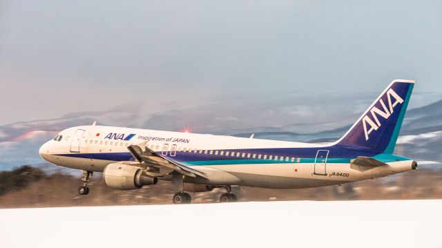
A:
{"type": "Polygon", "coordinates": [[[115,126],[67,128],[43,144],[41,158],[83,171],[81,195],[93,172],[108,187],[140,189],[170,181],[173,203],[188,192],[225,188],[220,202],[236,202],[231,187],[301,189],[381,178],[417,169],[394,155],[414,80],[396,79],[336,142],[310,144],[247,137],[155,131],[115,126]]]}

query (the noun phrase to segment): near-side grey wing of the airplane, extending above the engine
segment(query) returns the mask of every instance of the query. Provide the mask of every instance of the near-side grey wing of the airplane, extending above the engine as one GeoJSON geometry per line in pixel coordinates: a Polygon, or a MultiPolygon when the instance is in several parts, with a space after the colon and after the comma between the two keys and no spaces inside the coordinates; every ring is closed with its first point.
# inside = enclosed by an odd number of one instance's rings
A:
{"type": "Polygon", "coordinates": [[[149,166],[154,166],[157,169],[162,169],[165,167],[169,169],[169,171],[177,171],[182,175],[186,175],[192,178],[195,178],[197,175],[202,178],[207,178],[205,173],[197,171],[195,169],[191,169],[175,160],[171,160],[170,158],[167,158],[166,156],[163,156],[160,153],[149,149],[146,144],[147,141],[140,144],[133,144],[131,146],[128,146],[127,149],[132,153],[133,158],[135,158],[135,160],[140,163],[144,162],[145,164],[149,166]],[[145,149],[144,151],[142,149],[143,147],[145,149]]]}

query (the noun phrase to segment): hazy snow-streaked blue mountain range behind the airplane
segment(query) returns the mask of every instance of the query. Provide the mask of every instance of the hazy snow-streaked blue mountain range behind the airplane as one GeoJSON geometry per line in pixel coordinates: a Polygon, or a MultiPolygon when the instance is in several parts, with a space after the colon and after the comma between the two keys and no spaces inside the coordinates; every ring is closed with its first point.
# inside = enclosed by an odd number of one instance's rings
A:
{"type": "MultiPolygon", "coordinates": [[[[77,112],[52,120],[0,126],[0,170],[44,164],[41,144],[71,126],[99,124],[166,131],[213,133],[269,140],[330,142],[348,130],[373,95],[293,95],[256,93],[207,99],[122,104],[107,111],[77,112]],[[318,99],[320,99],[318,101],[318,99]],[[352,104],[347,104],[352,102],[352,104]]],[[[399,153],[416,160],[442,161],[442,100],[407,111],[398,140],[399,153]]]]}

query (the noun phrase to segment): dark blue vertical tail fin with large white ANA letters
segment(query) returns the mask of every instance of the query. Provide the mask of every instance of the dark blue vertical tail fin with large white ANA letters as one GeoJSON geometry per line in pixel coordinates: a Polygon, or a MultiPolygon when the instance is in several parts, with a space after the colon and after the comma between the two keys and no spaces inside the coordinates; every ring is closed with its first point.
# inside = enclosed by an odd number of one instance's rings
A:
{"type": "Polygon", "coordinates": [[[392,154],[413,86],[412,80],[394,80],[335,144],[392,154]]]}

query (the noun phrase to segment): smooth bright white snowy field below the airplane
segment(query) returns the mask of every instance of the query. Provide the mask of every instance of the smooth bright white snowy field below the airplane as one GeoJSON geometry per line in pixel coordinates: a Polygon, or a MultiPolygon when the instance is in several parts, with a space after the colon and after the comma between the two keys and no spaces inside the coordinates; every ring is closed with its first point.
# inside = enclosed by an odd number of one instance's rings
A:
{"type": "Polygon", "coordinates": [[[442,247],[442,200],[0,210],[0,247],[442,247]]]}

